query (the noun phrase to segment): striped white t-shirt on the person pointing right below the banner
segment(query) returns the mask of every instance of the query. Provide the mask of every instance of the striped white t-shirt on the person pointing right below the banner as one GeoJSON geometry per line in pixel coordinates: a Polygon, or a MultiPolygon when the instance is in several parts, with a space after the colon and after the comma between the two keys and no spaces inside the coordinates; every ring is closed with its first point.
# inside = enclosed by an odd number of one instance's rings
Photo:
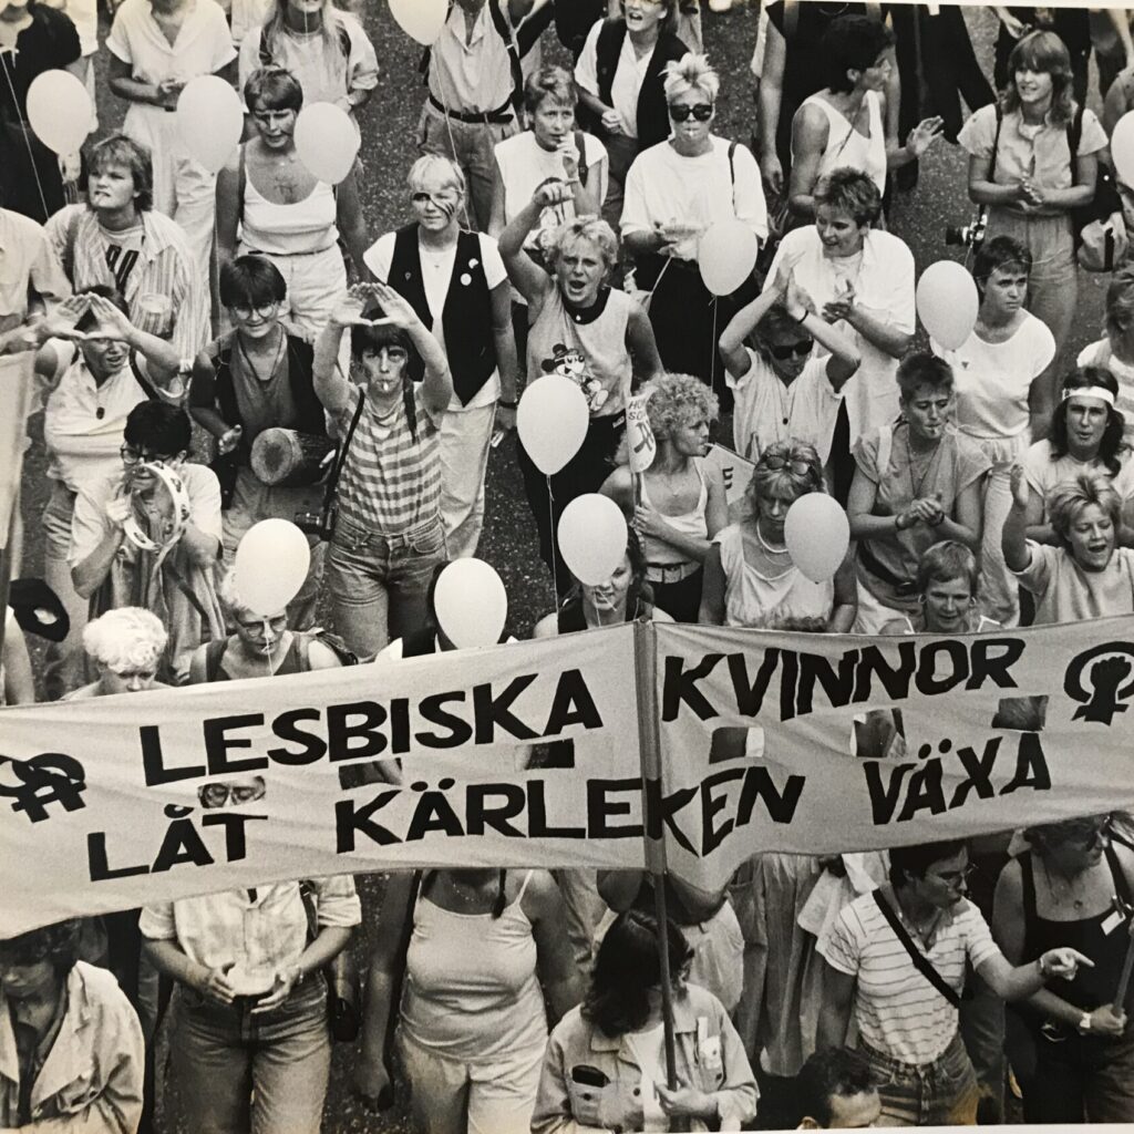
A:
{"type": "MultiPolygon", "coordinates": [[[[921,948],[917,932],[906,928],[921,948]]],[[[818,948],[837,972],[857,978],[855,1019],[871,1048],[915,1065],[945,1052],[957,1033],[957,1009],[914,968],[873,894],[846,906],[818,948]]],[[[1001,955],[980,911],[967,899],[945,912],[930,948],[922,951],[958,993],[966,956],[976,968],[1001,955]]]]}

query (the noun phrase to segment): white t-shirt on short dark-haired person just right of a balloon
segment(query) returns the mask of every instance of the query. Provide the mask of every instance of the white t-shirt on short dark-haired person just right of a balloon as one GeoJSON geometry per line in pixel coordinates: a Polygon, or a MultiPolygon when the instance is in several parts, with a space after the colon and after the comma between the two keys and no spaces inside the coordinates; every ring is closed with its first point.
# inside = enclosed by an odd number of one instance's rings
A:
{"type": "Polygon", "coordinates": [[[953,367],[957,429],[981,440],[1018,437],[1027,429],[1029,390],[1056,355],[1042,320],[1025,311],[1004,342],[985,342],[973,332],[956,350],[932,340],[931,346],[953,367]]]}

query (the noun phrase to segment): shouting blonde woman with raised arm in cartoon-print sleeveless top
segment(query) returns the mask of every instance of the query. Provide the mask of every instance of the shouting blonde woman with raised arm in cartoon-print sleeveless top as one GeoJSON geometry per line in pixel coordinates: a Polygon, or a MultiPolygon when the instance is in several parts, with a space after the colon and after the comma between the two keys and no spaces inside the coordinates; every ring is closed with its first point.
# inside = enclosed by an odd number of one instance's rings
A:
{"type": "Polygon", "coordinates": [[[527,302],[527,379],[560,374],[577,382],[591,413],[578,452],[551,477],[550,514],[543,474],[519,447],[532,517],[543,561],[553,570],[560,594],[570,574],[552,540],[562,509],[585,492],[598,492],[626,429],[626,400],[635,381],[661,373],[653,328],[641,304],[610,286],[618,238],[594,218],[576,218],[559,230],[552,274],[524,251],[528,234],[548,205],[566,200],[569,187],[549,181],[500,234],[500,253],[516,289],[527,302]],[[552,558],[552,556],[555,558],[552,558]]]}

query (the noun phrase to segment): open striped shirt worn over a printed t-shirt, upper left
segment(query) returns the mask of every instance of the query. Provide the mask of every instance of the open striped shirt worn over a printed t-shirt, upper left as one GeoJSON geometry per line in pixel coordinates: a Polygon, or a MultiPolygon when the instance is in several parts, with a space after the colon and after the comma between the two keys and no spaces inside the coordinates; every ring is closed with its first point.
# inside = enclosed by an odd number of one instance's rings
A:
{"type": "MultiPolygon", "coordinates": [[[[209,281],[198,278],[177,221],[153,209],[145,210],[141,220],[142,245],[122,291],[130,322],[143,331],[161,335],[163,328],[153,325],[152,316],[142,310],[142,301],[149,295],[168,296],[174,319],[170,340],[181,358],[192,361],[209,341],[209,281]]],[[[85,205],[67,205],[44,228],[76,290],[95,284],[118,287],[107,255],[110,240],[94,212],[85,205]]]]}

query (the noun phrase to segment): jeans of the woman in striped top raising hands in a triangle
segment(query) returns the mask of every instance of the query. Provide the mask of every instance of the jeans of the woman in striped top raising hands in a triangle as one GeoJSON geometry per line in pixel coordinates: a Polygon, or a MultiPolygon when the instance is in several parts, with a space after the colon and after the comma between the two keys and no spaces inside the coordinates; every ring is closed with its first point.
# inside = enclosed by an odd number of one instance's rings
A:
{"type": "Polygon", "coordinates": [[[335,628],[370,661],[391,637],[405,637],[429,619],[429,584],[446,561],[440,515],[398,535],[370,532],[339,515],[327,556],[335,628]]]}

